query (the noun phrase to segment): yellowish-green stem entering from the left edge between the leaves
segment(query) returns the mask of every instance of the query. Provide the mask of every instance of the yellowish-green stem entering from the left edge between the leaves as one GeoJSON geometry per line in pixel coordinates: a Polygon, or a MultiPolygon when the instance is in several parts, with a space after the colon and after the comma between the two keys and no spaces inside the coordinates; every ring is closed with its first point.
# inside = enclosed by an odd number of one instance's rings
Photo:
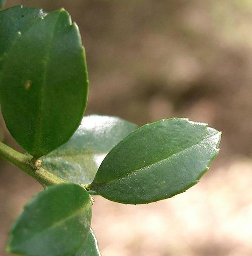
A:
{"type": "Polygon", "coordinates": [[[23,170],[43,187],[66,182],[43,168],[35,168],[32,156],[24,155],[0,142],[0,157],[23,170]]]}

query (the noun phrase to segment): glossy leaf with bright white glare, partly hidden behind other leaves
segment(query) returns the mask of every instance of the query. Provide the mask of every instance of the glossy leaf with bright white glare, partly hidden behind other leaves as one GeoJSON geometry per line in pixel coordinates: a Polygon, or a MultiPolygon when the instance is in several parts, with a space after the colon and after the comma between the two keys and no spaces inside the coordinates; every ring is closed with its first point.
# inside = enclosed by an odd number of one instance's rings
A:
{"type": "Polygon", "coordinates": [[[106,154],[137,125],[113,116],[89,115],[74,136],[43,157],[43,167],[73,183],[89,184],[106,154]]]}

